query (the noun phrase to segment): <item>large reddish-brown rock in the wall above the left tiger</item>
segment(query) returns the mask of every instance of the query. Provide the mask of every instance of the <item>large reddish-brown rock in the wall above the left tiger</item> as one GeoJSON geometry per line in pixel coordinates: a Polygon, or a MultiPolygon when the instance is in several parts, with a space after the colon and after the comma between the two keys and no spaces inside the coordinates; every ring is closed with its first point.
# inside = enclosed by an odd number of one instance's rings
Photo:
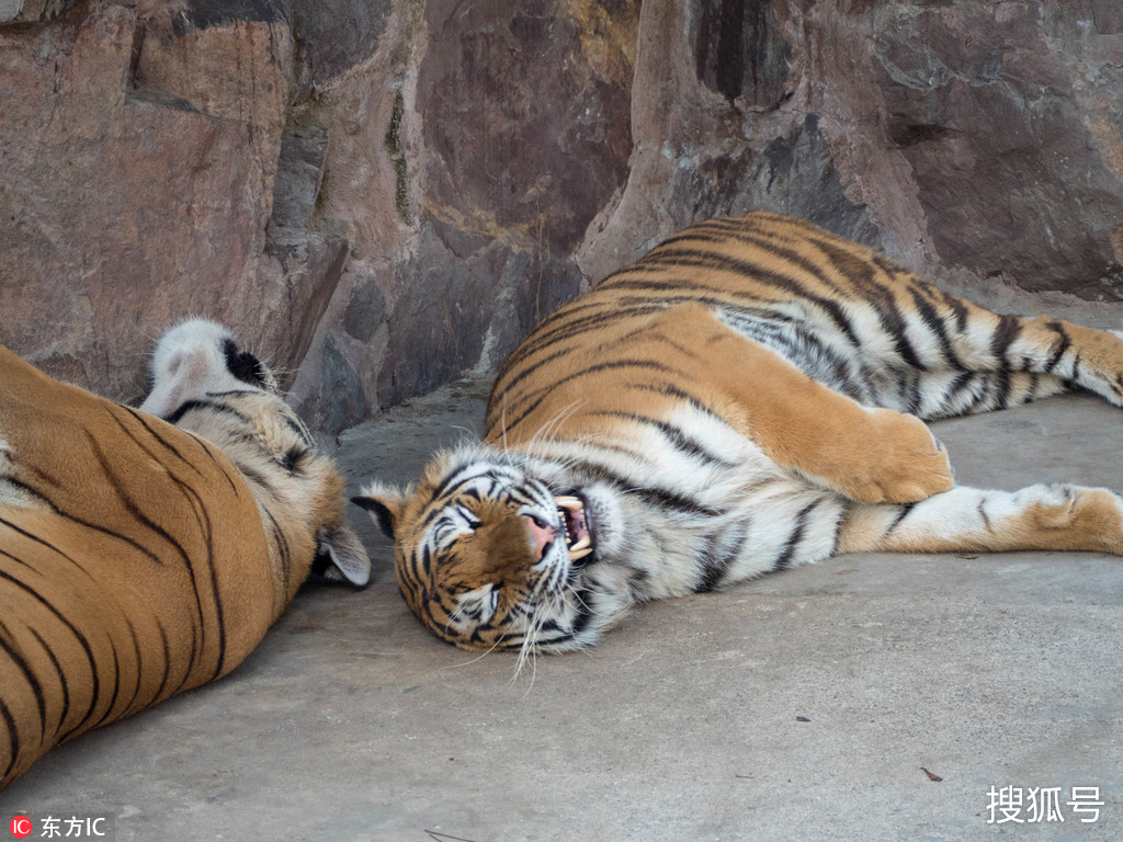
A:
{"type": "Polygon", "coordinates": [[[307,350],[346,249],[266,232],[285,21],[168,9],[140,20],[93,2],[0,28],[0,55],[3,344],[126,397],[143,387],[153,333],[186,314],[307,350]]]}

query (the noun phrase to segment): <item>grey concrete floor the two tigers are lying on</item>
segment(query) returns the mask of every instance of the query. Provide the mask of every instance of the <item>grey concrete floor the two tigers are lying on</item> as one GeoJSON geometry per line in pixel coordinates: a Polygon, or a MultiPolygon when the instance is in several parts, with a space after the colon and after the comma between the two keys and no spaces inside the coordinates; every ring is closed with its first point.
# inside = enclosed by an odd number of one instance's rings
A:
{"type": "MultiPolygon", "coordinates": [[[[351,486],[412,477],[482,397],[460,384],[347,433],[351,486]]],[[[1077,396],[938,434],[967,484],[1121,487],[1121,422],[1077,396]]],[[[57,749],[0,820],[161,841],[1123,839],[1120,559],[840,557],[643,606],[517,675],[424,632],[353,514],[368,591],[305,588],[232,676],[57,749]],[[1098,787],[1098,821],[1074,786],[1098,787]],[[992,787],[1023,823],[987,823],[992,787]],[[1028,821],[1038,787],[1063,823],[1028,821]]]]}

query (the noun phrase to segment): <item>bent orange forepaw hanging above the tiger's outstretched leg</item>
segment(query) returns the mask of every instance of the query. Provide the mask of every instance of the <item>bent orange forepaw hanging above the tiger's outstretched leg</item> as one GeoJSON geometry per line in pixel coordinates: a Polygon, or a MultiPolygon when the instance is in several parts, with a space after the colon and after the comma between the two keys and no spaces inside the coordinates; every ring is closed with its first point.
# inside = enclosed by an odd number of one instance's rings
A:
{"type": "Polygon", "coordinates": [[[865,470],[842,484],[859,503],[917,503],[953,485],[948,451],[913,415],[874,410],[865,470]]]}

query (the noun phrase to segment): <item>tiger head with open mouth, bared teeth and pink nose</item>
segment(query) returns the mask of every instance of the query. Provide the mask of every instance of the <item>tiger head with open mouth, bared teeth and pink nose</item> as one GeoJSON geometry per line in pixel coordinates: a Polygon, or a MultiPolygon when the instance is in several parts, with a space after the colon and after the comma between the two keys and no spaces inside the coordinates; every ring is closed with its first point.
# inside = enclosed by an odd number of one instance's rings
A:
{"type": "Polygon", "coordinates": [[[566,486],[545,460],[466,445],[438,454],[416,487],[372,483],[351,500],[394,541],[410,608],[463,649],[577,649],[630,603],[612,564],[619,501],[566,486]]]}

